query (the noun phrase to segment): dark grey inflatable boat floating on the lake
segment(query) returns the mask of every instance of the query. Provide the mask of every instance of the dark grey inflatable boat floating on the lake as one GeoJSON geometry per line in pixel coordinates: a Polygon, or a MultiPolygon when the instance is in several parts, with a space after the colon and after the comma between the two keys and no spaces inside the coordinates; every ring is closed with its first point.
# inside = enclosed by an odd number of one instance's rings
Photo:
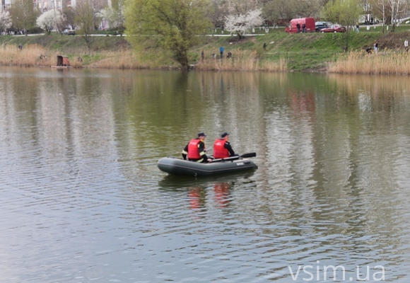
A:
{"type": "Polygon", "coordinates": [[[215,159],[211,163],[198,163],[176,157],[164,157],[158,161],[160,171],[171,175],[209,176],[223,173],[256,169],[257,165],[248,159],[255,153],[215,159]]]}

